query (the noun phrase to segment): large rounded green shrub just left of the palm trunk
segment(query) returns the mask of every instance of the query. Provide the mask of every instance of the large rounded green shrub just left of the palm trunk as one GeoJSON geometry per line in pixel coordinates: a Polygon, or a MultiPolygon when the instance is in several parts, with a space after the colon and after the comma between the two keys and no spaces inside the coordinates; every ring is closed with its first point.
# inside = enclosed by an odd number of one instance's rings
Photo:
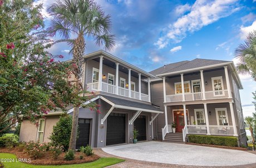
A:
{"type": "Polygon", "coordinates": [[[50,135],[51,144],[53,146],[63,146],[66,151],[70,143],[70,135],[72,128],[72,116],[62,115],[60,120],[53,126],[52,134],[50,135]]]}

